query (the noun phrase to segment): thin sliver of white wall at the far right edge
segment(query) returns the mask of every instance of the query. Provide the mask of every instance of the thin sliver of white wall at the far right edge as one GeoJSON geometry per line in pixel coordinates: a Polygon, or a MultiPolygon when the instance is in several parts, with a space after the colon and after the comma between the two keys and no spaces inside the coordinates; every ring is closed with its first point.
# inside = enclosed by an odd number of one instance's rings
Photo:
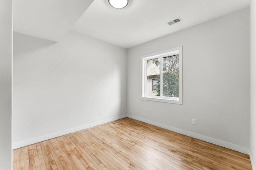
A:
{"type": "Polygon", "coordinates": [[[256,0],[250,5],[250,150],[256,169],[256,0]]]}

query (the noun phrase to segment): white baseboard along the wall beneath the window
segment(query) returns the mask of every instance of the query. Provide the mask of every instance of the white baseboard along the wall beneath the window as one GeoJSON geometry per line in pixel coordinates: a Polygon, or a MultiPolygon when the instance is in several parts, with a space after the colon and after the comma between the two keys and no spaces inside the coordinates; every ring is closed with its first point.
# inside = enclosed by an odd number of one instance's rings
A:
{"type": "Polygon", "coordinates": [[[225,147],[225,148],[228,148],[228,149],[236,150],[236,151],[244,153],[244,154],[250,154],[250,149],[244,148],[244,147],[240,147],[240,146],[234,145],[232,143],[228,143],[228,142],[225,142],[225,141],[220,141],[218,139],[214,139],[214,138],[207,137],[207,136],[204,136],[204,135],[199,135],[197,133],[192,133],[190,131],[185,131],[185,130],[182,130],[182,129],[178,129],[176,127],[172,127],[172,126],[169,126],[169,125],[164,125],[162,123],[158,123],[158,122],[151,121],[151,120],[148,120],[148,119],[143,119],[141,117],[137,117],[137,116],[134,116],[134,115],[127,115],[127,117],[130,117],[132,119],[136,119],[138,121],[142,121],[142,122],[145,122],[145,123],[149,123],[151,125],[162,127],[164,129],[168,129],[170,131],[181,133],[183,135],[194,137],[194,138],[200,139],[202,141],[213,143],[215,145],[219,145],[219,146],[222,146],[222,147],[225,147]]]}

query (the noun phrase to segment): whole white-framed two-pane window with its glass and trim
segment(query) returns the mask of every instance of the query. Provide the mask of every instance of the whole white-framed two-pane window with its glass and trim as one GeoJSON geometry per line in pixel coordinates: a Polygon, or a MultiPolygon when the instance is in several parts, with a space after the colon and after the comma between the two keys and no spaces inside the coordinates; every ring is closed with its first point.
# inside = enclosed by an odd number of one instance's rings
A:
{"type": "Polygon", "coordinates": [[[182,46],[141,56],[141,99],[182,104],[182,46]]]}

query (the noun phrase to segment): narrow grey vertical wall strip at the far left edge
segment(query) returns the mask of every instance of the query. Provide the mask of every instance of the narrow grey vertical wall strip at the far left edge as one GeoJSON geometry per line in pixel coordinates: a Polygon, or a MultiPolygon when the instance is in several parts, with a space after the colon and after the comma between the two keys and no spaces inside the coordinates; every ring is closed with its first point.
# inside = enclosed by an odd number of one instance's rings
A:
{"type": "Polygon", "coordinates": [[[0,169],[12,168],[12,1],[0,2],[0,169]]]}

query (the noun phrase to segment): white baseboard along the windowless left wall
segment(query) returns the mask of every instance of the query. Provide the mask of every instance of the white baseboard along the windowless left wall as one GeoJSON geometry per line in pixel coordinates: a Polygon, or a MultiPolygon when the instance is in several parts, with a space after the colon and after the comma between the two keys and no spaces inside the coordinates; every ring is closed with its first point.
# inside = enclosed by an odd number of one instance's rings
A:
{"type": "Polygon", "coordinates": [[[28,145],[31,145],[31,144],[34,144],[34,143],[42,142],[42,141],[45,141],[45,140],[48,140],[48,139],[52,139],[52,138],[59,137],[59,136],[62,136],[62,135],[67,135],[69,133],[81,131],[81,130],[84,130],[84,129],[88,129],[90,127],[94,127],[94,126],[102,125],[104,123],[108,123],[108,122],[111,122],[111,121],[122,119],[124,117],[127,117],[127,115],[120,115],[120,116],[117,116],[117,117],[112,117],[110,119],[105,119],[105,120],[102,120],[102,121],[97,121],[97,122],[90,123],[90,124],[87,124],[87,125],[82,125],[82,126],[79,126],[79,127],[74,127],[74,128],[71,128],[71,129],[66,129],[64,131],[60,131],[60,132],[56,132],[56,133],[51,133],[49,135],[44,135],[44,136],[41,136],[41,137],[36,137],[36,138],[33,138],[33,139],[28,139],[26,141],[21,141],[21,142],[13,143],[12,144],[12,149],[17,149],[17,148],[20,148],[20,147],[25,147],[25,146],[28,146],[28,145]]]}

